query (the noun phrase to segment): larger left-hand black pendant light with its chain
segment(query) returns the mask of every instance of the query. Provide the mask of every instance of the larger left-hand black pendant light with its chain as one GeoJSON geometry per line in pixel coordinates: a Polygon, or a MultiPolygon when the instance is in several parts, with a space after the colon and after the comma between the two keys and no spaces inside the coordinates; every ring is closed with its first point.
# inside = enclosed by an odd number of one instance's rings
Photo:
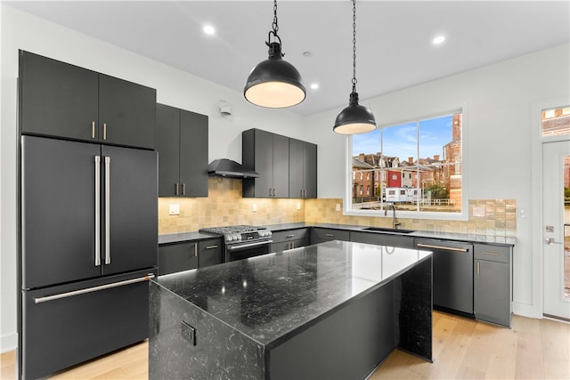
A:
{"type": "Polygon", "coordinates": [[[277,35],[277,0],[273,2],[272,27],[265,43],[269,47],[269,58],[251,70],[243,95],[257,106],[282,109],[304,101],[306,91],[297,69],[283,61],[285,54],[281,53],[281,38],[277,35]]]}

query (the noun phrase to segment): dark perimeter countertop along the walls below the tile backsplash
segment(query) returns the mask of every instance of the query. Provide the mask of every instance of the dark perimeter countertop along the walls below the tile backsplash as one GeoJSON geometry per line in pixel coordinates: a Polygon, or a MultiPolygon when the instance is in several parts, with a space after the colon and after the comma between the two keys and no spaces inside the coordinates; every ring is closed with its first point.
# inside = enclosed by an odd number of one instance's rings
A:
{"type": "MultiPolygon", "coordinates": [[[[398,234],[398,232],[375,232],[370,230],[364,230],[369,226],[358,226],[351,224],[332,224],[332,223],[305,223],[305,222],[293,222],[293,223],[281,223],[281,224],[267,224],[264,227],[269,230],[294,230],[298,228],[307,227],[320,227],[328,228],[334,230],[348,230],[348,231],[359,231],[359,232],[369,232],[369,233],[385,233],[385,234],[398,234]]],[[[469,233],[460,232],[442,232],[442,231],[428,231],[428,230],[414,230],[411,233],[406,233],[404,236],[411,236],[414,238],[428,238],[428,239],[444,239],[444,240],[458,240],[467,241],[472,243],[483,243],[483,244],[493,244],[501,246],[512,247],[517,242],[515,237],[506,236],[493,236],[493,235],[476,235],[469,233]]],[[[173,233],[167,235],[159,235],[159,244],[174,243],[186,240],[196,240],[196,239],[212,239],[212,235],[206,235],[199,232],[184,232],[184,233],[173,233]]]]}

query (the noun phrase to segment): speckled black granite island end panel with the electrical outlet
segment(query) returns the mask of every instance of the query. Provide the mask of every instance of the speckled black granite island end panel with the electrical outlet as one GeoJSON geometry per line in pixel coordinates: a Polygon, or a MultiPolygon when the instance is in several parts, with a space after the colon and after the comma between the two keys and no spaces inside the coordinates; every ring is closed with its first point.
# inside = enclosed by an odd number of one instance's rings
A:
{"type": "Polygon", "coordinates": [[[265,377],[260,344],[155,282],[150,287],[149,379],[265,377]]]}

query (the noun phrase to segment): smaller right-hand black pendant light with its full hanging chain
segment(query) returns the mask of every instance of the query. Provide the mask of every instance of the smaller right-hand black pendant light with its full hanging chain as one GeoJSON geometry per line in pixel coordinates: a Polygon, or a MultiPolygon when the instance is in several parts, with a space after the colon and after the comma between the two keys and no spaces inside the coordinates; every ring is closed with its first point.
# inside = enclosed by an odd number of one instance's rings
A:
{"type": "Polygon", "coordinates": [[[356,93],[356,1],[353,0],[353,92],[348,107],[343,109],[332,130],[340,134],[367,133],[376,129],[376,119],[372,111],[358,104],[356,93]]]}

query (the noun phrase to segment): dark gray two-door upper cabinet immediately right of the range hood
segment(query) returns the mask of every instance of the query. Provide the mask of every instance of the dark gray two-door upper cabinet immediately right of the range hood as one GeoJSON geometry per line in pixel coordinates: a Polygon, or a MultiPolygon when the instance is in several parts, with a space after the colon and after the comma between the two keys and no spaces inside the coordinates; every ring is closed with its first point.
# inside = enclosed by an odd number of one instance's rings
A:
{"type": "Polygon", "coordinates": [[[243,197],[289,198],[289,137],[250,129],[242,133],[242,164],[258,178],[243,180],[243,197]]]}

